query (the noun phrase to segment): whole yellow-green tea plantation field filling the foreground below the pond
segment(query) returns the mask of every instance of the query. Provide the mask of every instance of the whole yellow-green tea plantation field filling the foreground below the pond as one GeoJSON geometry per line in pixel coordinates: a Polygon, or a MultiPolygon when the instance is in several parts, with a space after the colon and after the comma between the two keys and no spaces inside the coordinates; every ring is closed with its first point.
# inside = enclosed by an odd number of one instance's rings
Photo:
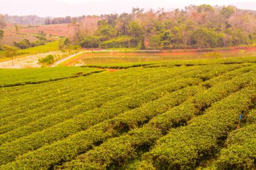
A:
{"type": "Polygon", "coordinates": [[[0,169],[256,168],[256,57],[101,68],[1,69],[0,169]]]}

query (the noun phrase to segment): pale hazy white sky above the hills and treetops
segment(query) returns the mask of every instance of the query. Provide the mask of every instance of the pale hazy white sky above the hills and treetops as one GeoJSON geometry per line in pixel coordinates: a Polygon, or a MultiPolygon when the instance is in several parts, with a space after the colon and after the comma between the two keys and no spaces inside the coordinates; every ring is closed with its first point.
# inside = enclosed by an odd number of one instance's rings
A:
{"type": "Polygon", "coordinates": [[[131,12],[132,7],[144,9],[183,8],[186,5],[236,5],[256,10],[256,0],[0,0],[0,13],[64,17],[131,12]]]}

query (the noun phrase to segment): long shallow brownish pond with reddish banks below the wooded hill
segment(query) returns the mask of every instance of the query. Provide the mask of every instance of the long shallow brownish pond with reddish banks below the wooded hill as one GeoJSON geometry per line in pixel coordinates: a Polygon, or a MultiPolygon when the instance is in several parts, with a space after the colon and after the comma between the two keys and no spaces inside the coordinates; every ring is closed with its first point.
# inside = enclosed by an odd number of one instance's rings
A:
{"type": "MultiPolygon", "coordinates": [[[[242,57],[242,56],[256,56],[256,51],[253,52],[221,52],[221,57],[242,57]]],[[[125,63],[125,62],[154,62],[166,60],[195,60],[195,59],[210,59],[208,52],[162,52],[162,53],[90,53],[83,54],[75,60],[69,62],[69,65],[98,65],[109,63],[125,63]]]]}

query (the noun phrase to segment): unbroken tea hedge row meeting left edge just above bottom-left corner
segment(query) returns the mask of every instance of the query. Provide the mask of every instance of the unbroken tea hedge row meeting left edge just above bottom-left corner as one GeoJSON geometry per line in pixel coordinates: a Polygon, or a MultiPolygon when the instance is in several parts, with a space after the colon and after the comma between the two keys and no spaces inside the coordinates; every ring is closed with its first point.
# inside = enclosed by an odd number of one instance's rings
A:
{"type": "MultiPolygon", "coordinates": [[[[47,143],[60,140],[61,138],[65,138],[71,134],[85,130],[94,124],[98,124],[99,122],[108,120],[109,118],[113,118],[122,112],[137,108],[143,103],[158,99],[163,95],[162,92],[164,91],[175,91],[189,84],[190,81],[185,79],[170,85],[162,85],[160,87],[156,87],[155,89],[144,91],[139,95],[133,95],[131,97],[127,96],[124,99],[108,103],[108,105],[96,110],[92,110],[86,114],[80,114],[73,119],[42,130],[41,132],[33,133],[30,136],[3,144],[0,148],[0,162],[3,164],[13,161],[15,157],[21,155],[22,153],[24,154],[28,151],[35,150],[36,148],[39,148],[47,143]]],[[[53,119],[54,118],[55,117],[53,117],[53,119]]]]}

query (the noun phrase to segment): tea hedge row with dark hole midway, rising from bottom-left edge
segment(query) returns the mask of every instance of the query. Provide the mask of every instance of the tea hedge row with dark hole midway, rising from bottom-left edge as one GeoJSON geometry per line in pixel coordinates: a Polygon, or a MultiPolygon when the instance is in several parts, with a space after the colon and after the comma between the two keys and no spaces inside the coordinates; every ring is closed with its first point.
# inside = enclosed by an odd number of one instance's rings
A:
{"type": "MultiPolygon", "coordinates": [[[[88,151],[92,145],[100,144],[100,142],[106,140],[106,138],[110,138],[111,136],[118,136],[122,132],[125,132],[124,130],[121,130],[123,126],[133,126],[133,124],[129,124],[128,122],[140,121],[141,124],[143,124],[143,121],[145,120],[143,113],[148,114],[150,117],[154,117],[157,114],[168,110],[169,107],[171,108],[174,105],[179,105],[179,103],[183,102],[187,97],[189,97],[189,95],[193,95],[193,93],[196,91],[198,91],[197,87],[187,87],[186,89],[181,89],[180,91],[167,94],[166,96],[156,101],[152,101],[146,105],[141,106],[141,108],[125,112],[124,114],[121,114],[111,120],[106,120],[105,122],[97,124],[88,130],[70,136],[66,140],[42,147],[32,153],[32,155],[37,155],[36,157],[38,158],[38,162],[36,161],[37,163],[34,162],[28,166],[30,168],[38,168],[36,166],[40,165],[40,167],[47,169],[53,164],[57,165],[60,161],[69,161],[70,159],[74,158],[77,153],[88,151]],[[177,98],[177,96],[180,98],[177,98]],[[149,108],[149,105],[156,106],[156,108],[149,108]],[[165,105],[165,107],[162,108],[162,105],[165,105]],[[125,118],[127,118],[127,125],[125,125],[124,122],[125,118]],[[63,148],[66,148],[65,151],[63,151],[63,148]],[[53,159],[53,157],[55,159],[53,159]]],[[[24,157],[30,159],[31,153],[24,155],[24,157]]]]}

